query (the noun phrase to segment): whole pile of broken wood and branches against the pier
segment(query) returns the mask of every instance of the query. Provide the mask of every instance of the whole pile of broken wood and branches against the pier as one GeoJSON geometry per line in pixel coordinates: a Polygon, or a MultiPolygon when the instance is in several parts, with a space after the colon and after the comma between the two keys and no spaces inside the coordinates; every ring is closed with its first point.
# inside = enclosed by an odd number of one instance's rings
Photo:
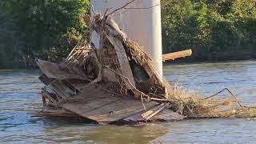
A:
{"type": "Polygon", "coordinates": [[[178,121],[235,113],[238,99],[234,94],[233,99],[215,95],[201,98],[170,85],[154,70],[154,62],[142,46],[127,38],[110,14],[94,14],[90,19],[92,30],[100,38],[97,49],[90,33],[65,62],[37,60],[43,73],[39,79],[46,85],[42,88],[45,109],[38,114],[113,123],[178,121]]]}

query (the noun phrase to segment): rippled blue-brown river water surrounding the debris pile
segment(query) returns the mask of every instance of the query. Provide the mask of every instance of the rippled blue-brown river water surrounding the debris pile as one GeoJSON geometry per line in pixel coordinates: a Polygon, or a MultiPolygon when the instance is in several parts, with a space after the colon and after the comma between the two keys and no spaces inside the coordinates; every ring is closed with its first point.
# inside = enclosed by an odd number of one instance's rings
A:
{"type": "MultiPolygon", "coordinates": [[[[36,117],[42,107],[39,70],[0,70],[0,143],[254,143],[256,119],[218,118],[101,126],[36,117]]],[[[165,77],[203,95],[230,88],[246,105],[256,105],[256,61],[164,66],[165,77]]]]}

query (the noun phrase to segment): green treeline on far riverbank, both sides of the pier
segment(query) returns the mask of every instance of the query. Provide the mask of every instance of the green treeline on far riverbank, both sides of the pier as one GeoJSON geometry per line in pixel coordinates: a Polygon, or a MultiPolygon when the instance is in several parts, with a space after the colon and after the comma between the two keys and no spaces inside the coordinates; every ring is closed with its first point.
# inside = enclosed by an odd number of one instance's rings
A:
{"type": "MultiPolygon", "coordinates": [[[[89,0],[1,0],[0,68],[60,61],[86,30],[89,0]]],[[[254,58],[255,0],[162,0],[163,52],[192,48],[190,61],[254,58]]]]}

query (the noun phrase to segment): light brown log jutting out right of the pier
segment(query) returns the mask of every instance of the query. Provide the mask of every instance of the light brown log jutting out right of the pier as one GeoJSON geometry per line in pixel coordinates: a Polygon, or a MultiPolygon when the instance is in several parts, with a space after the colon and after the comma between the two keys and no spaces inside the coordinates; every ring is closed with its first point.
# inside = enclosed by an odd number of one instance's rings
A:
{"type": "Polygon", "coordinates": [[[185,57],[189,57],[192,55],[192,50],[182,50],[182,51],[178,51],[178,52],[174,52],[174,53],[170,53],[170,54],[163,54],[162,55],[162,61],[165,62],[167,60],[174,60],[176,58],[185,58],[185,57]]]}

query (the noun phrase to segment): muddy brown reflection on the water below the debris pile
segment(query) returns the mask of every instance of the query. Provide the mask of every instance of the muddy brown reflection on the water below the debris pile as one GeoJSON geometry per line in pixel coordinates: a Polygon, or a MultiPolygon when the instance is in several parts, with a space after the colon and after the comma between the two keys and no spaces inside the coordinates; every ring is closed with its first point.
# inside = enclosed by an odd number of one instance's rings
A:
{"type": "Polygon", "coordinates": [[[166,134],[166,127],[154,124],[142,127],[98,126],[92,130],[88,138],[92,142],[148,143],[164,134],[166,134]]]}

